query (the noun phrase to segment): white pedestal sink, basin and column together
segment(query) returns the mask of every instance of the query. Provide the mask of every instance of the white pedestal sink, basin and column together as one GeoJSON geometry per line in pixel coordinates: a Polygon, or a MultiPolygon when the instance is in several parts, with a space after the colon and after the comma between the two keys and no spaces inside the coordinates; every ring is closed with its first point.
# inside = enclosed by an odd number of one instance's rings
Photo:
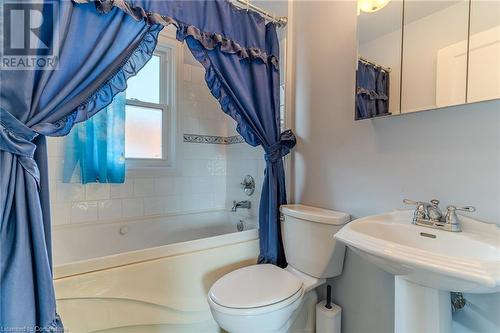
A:
{"type": "Polygon", "coordinates": [[[399,332],[451,332],[450,291],[500,291],[500,228],[460,216],[462,232],[416,226],[412,211],[355,220],[335,238],[395,275],[399,332]]]}

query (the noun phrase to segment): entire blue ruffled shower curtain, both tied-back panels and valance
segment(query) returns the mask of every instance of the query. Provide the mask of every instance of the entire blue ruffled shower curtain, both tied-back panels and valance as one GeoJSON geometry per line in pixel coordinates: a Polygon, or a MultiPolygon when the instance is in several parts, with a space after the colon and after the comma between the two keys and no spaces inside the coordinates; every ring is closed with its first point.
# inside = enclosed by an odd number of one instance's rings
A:
{"type": "MultiPolygon", "coordinates": [[[[29,12],[33,4],[16,5],[29,12]]],[[[177,38],[186,40],[205,67],[207,84],[237,121],[239,133],[264,148],[259,261],[285,266],[278,211],[286,202],[282,157],[295,137],[291,131],[279,133],[275,26],[225,0],[37,6],[33,10],[52,18],[37,30],[48,48],[29,55],[38,60],[53,52],[57,69],[0,71],[2,329],[62,331],[52,286],[45,136],[67,135],[75,123],[109,105],[151,58],[158,33],[168,24],[177,27],[177,38]]],[[[25,29],[22,20],[11,26],[25,29]]],[[[5,56],[2,51],[0,57],[5,56]]]]}

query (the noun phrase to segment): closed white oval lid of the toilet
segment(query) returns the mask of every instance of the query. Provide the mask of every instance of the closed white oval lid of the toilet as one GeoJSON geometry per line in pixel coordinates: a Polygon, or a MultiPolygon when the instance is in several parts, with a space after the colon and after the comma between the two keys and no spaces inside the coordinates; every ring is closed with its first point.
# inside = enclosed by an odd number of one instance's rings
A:
{"type": "Polygon", "coordinates": [[[217,304],[230,308],[256,308],[281,302],[297,293],[302,281],[270,264],[252,265],[221,277],[210,289],[217,304]]]}

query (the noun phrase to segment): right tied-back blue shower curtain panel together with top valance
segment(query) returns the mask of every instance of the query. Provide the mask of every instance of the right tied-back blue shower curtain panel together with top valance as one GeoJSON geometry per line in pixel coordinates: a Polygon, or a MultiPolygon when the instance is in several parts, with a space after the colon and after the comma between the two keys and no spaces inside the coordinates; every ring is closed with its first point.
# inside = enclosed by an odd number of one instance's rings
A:
{"type": "Polygon", "coordinates": [[[279,206],[286,204],[283,157],[296,139],[279,126],[279,43],[276,26],[229,1],[101,0],[106,12],[119,7],[140,21],[173,24],[205,67],[205,80],[222,110],[266,160],[259,211],[260,263],[287,265],[281,240],[279,206]]]}

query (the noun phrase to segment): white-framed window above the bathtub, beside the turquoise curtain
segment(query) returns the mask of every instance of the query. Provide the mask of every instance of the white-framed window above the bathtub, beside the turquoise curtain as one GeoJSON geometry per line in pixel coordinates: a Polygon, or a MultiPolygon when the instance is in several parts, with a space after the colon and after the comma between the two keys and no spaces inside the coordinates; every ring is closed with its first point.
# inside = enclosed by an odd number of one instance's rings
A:
{"type": "Polygon", "coordinates": [[[172,164],[174,47],[159,43],[151,60],[127,82],[125,158],[128,168],[172,164]]]}

